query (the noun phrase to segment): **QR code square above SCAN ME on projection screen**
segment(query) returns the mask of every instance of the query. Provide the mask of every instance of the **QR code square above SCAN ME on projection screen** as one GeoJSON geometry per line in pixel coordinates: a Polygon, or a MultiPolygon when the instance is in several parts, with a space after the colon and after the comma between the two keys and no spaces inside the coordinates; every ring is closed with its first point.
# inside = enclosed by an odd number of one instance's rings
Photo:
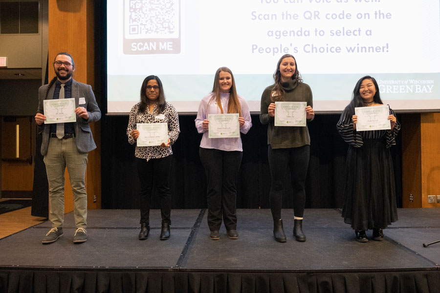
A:
{"type": "Polygon", "coordinates": [[[125,37],[178,38],[179,0],[126,0],[125,37]]]}

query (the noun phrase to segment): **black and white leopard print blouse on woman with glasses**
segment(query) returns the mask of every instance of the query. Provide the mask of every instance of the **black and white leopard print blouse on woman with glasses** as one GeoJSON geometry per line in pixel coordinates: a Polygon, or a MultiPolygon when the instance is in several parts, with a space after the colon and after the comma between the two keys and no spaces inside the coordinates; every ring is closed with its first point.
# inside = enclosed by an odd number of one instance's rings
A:
{"type": "Polygon", "coordinates": [[[173,150],[171,145],[173,145],[180,133],[179,128],[179,117],[177,115],[176,108],[170,103],[166,103],[162,115],[157,115],[157,105],[154,106],[152,113],[148,113],[148,107],[143,113],[139,113],[140,102],[132,107],[130,111],[129,124],[127,126],[127,136],[130,144],[136,142],[133,139],[131,132],[136,129],[136,123],[167,123],[168,124],[168,138],[170,139],[170,147],[162,146],[136,146],[134,150],[134,156],[141,159],[158,159],[164,158],[166,156],[172,155],[173,150]]]}

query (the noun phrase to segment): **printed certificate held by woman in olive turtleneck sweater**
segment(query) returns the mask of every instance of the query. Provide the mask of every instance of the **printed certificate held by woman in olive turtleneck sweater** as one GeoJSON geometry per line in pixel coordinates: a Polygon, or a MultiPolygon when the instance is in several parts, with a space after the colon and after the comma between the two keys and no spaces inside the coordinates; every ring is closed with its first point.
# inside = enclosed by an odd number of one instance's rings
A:
{"type": "Polygon", "coordinates": [[[306,126],[307,102],[275,102],[275,126],[306,126]]]}

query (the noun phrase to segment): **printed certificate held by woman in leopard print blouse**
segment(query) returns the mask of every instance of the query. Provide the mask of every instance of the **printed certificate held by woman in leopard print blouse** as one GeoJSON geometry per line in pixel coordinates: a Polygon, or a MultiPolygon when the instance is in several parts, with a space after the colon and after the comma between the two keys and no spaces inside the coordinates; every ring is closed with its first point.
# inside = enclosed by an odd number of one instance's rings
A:
{"type": "Polygon", "coordinates": [[[137,146],[160,146],[168,144],[168,124],[166,123],[137,123],[139,130],[137,146]]]}

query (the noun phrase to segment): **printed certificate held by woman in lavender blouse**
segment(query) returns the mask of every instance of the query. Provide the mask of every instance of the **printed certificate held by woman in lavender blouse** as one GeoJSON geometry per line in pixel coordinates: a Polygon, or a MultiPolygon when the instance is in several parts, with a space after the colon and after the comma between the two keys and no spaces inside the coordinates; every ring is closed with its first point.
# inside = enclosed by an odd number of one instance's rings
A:
{"type": "Polygon", "coordinates": [[[209,114],[208,137],[240,137],[239,114],[209,114]]]}

